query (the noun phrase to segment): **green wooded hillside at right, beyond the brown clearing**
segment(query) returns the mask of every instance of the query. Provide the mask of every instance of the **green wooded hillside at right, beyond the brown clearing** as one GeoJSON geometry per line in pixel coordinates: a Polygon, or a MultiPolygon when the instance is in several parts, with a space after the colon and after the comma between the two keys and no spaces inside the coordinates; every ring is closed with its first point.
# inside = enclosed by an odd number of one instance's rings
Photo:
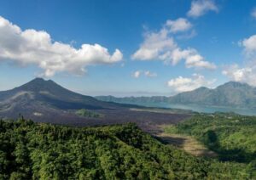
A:
{"type": "Polygon", "coordinates": [[[256,117],[215,113],[195,115],[168,133],[183,133],[197,138],[218,153],[219,160],[245,163],[256,177],[256,117]]]}

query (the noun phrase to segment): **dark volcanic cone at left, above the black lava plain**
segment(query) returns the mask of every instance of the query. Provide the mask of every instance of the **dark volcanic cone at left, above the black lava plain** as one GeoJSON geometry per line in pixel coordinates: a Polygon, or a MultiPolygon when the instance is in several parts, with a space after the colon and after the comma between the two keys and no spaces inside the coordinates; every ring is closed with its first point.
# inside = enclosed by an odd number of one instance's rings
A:
{"type": "Polygon", "coordinates": [[[79,108],[95,110],[116,107],[116,105],[99,101],[90,96],[73,93],[51,80],[45,81],[42,78],[36,78],[20,87],[0,92],[0,110],[4,110],[3,106],[9,106],[10,109],[18,105],[37,103],[61,110],[79,108]]]}

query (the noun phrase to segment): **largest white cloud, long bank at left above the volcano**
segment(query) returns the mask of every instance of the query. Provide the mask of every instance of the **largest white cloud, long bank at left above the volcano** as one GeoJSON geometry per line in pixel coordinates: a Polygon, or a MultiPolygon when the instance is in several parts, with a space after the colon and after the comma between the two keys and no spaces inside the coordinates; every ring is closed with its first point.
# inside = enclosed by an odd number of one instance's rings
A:
{"type": "Polygon", "coordinates": [[[44,70],[43,76],[54,76],[62,71],[80,75],[88,65],[113,64],[122,58],[119,49],[110,54],[108,48],[99,44],[73,48],[70,44],[54,42],[46,31],[22,31],[0,16],[0,61],[37,65],[44,70]]]}

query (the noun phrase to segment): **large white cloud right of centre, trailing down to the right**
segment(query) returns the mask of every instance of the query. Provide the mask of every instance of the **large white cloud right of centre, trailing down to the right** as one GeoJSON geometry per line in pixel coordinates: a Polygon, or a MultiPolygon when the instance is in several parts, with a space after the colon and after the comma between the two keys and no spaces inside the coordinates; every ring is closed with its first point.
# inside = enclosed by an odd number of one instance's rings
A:
{"type": "MultiPolygon", "coordinates": [[[[177,65],[181,60],[185,60],[185,65],[188,68],[196,69],[215,69],[216,65],[206,61],[195,48],[181,49],[177,42],[172,37],[172,28],[167,28],[167,24],[173,25],[174,22],[179,21],[167,20],[166,25],[156,32],[147,32],[144,37],[144,42],[135,53],[132,54],[132,59],[138,60],[162,60],[166,64],[171,63],[177,65]]],[[[174,23],[175,24],[175,23],[174,23]]],[[[181,31],[181,27],[176,28],[175,31],[181,31]]],[[[183,30],[188,28],[183,28],[183,30]]]]}

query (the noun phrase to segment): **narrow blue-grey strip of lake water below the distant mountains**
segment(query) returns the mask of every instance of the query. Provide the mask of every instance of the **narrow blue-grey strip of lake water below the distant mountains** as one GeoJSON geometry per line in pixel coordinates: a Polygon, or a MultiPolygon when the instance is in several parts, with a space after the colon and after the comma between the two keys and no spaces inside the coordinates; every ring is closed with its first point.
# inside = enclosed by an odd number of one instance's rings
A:
{"type": "Polygon", "coordinates": [[[235,112],[240,115],[256,115],[256,110],[242,109],[242,108],[227,108],[227,107],[214,107],[214,106],[199,106],[195,104],[167,104],[167,103],[152,103],[152,104],[139,104],[147,107],[159,107],[159,108],[172,108],[181,110],[193,110],[195,112],[202,113],[214,113],[214,112],[235,112]]]}

